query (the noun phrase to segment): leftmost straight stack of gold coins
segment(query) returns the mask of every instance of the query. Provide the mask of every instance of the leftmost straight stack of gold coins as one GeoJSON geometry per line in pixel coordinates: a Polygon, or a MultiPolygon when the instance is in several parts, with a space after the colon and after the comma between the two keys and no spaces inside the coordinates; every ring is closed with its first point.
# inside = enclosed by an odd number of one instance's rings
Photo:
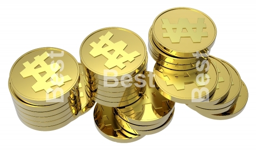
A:
{"type": "Polygon", "coordinates": [[[84,82],[80,83],[80,69],[71,54],[58,48],[22,55],[12,66],[8,82],[21,122],[36,130],[55,130],[89,111],[94,103],[85,93],[84,82]]]}

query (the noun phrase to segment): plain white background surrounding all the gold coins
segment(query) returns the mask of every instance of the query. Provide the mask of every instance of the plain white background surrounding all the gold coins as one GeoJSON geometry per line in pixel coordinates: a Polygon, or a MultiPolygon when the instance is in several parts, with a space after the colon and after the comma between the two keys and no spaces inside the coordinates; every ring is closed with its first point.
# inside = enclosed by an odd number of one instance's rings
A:
{"type": "MultiPolygon", "coordinates": [[[[1,0],[0,1],[0,151],[26,153],[242,153],[255,151],[256,103],[254,0],[1,0]],[[174,119],[163,131],[129,144],[102,137],[93,110],[64,128],[42,132],[17,117],[8,78],[15,60],[39,47],[64,49],[80,61],[79,48],[91,32],[119,26],[147,44],[155,17],[174,7],[199,9],[217,26],[211,55],[231,63],[249,91],[245,110],[230,120],[211,120],[176,103],[174,119]]],[[[148,70],[155,61],[149,55],[148,70]]]]}

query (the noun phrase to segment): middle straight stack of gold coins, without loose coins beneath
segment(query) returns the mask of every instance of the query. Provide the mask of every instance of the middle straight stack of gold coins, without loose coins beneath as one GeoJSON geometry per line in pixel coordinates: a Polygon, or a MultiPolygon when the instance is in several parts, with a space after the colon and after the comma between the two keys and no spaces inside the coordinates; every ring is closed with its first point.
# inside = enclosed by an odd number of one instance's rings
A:
{"type": "Polygon", "coordinates": [[[146,45],[134,32],[118,27],[97,30],[80,48],[86,92],[104,106],[134,103],[144,93],[140,78],[147,67],[146,45]]]}

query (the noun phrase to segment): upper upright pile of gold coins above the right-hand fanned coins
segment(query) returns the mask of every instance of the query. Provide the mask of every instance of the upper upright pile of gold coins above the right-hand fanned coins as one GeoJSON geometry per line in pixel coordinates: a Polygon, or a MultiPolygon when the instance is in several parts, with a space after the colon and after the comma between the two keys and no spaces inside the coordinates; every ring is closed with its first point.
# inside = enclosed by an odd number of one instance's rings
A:
{"type": "Polygon", "coordinates": [[[196,68],[207,60],[216,34],[215,24],[201,11],[168,9],[155,18],[149,30],[149,53],[166,68],[196,68]]]}

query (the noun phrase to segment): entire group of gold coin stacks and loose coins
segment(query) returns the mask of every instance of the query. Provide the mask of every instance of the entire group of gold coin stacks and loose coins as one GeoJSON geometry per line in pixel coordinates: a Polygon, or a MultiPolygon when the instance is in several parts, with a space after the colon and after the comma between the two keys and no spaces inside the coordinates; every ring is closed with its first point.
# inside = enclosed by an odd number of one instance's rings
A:
{"type": "Polygon", "coordinates": [[[81,63],[58,48],[29,51],[14,63],[8,81],[18,118],[29,128],[55,130],[97,102],[96,128],[121,143],[166,128],[175,102],[211,119],[233,118],[245,108],[248,91],[231,64],[210,55],[216,34],[212,19],[199,10],[162,12],[148,34],[153,72],[147,71],[145,43],[124,28],[88,35],[81,63]]]}

